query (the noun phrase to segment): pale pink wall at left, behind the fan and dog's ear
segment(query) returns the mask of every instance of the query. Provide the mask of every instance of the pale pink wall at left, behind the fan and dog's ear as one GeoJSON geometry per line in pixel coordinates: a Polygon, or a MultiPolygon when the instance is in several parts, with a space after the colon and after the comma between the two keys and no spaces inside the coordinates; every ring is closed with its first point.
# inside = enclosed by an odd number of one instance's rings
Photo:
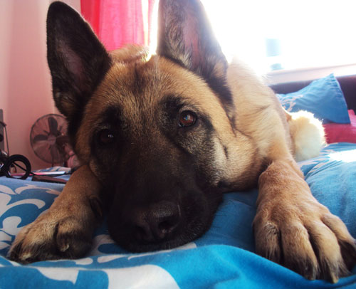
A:
{"type": "MultiPolygon", "coordinates": [[[[66,3],[80,11],[80,0],[66,3]]],[[[56,112],[46,62],[46,14],[49,0],[0,0],[0,108],[11,154],[23,154],[33,169],[51,164],[38,159],[29,135],[33,123],[56,112]]]]}

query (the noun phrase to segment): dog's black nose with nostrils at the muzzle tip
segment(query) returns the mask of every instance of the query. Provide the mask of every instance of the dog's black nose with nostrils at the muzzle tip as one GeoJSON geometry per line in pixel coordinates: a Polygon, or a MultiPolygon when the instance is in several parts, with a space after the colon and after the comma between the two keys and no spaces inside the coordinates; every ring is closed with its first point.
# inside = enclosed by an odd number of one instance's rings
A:
{"type": "Polygon", "coordinates": [[[178,204],[159,201],[145,208],[135,209],[132,226],[137,241],[157,242],[169,238],[181,221],[178,204]]]}

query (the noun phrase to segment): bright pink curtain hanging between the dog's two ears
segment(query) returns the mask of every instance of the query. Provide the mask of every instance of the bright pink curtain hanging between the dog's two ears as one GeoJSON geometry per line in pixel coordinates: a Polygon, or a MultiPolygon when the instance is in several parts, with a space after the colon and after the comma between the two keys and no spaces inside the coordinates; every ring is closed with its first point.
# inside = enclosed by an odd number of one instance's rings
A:
{"type": "Polygon", "coordinates": [[[150,41],[155,0],[80,0],[81,13],[108,51],[150,41]]]}

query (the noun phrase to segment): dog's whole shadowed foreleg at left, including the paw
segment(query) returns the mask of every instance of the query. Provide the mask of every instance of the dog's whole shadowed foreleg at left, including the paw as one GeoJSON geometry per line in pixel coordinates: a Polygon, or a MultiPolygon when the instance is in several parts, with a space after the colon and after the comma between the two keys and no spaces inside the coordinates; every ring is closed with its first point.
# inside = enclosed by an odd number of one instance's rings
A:
{"type": "Polygon", "coordinates": [[[80,167],[51,208],[21,229],[9,258],[29,263],[81,257],[89,250],[101,219],[100,184],[88,166],[80,167]]]}

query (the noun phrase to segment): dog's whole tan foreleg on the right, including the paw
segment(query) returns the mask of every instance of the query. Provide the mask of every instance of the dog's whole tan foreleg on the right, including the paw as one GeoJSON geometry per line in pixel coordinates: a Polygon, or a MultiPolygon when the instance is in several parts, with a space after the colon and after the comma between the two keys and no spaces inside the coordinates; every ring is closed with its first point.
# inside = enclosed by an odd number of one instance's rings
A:
{"type": "Polygon", "coordinates": [[[313,197],[295,161],[288,155],[274,159],[258,186],[256,252],[308,279],[335,283],[347,275],[356,263],[355,240],[313,197]]]}

